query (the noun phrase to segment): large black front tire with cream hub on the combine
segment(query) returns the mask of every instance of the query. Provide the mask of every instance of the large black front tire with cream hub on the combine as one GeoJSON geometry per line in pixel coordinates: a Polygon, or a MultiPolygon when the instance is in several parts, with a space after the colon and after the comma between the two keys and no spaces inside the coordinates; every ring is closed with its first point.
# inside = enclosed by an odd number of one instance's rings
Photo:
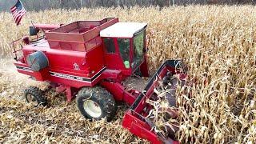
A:
{"type": "Polygon", "coordinates": [[[114,118],[116,111],[118,110],[118,107],[116,105],[116,102],[114,101],[112,94],[110,94],[110,92],[108,92],[101,86],[84,87],[81,90],[79,90],[77,97],[77,105],[81,114],[85,118],[89,118],[90,120],[99,120],[101,118],[106,118],[109,122],[112,118],[114,118]],[[90,111],[88,112],[89,108],[85,108],[87,107],[88,102],[94,102],[94,105],[97,107],[97,110],[101,110],[100,113],[98,113],[98,111],[96,110],[97,116],[95,114],[93,116],[93,114],[91,114],[90,111]]]}

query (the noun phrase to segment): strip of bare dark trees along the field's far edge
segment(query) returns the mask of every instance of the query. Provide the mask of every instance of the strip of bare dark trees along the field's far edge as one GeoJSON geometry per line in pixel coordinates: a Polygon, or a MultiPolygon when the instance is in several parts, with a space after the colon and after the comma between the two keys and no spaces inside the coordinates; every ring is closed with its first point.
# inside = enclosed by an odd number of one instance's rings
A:
{"type": "MultiPolygon", "coordinates": [[[[82,7],[186,6],[190,4],[255,4],[256,0],[21,0],[26,10],[80,9],[82,7]]],[[[0,11],[10,11],[17,0],[0,0],[0,11]]]]}

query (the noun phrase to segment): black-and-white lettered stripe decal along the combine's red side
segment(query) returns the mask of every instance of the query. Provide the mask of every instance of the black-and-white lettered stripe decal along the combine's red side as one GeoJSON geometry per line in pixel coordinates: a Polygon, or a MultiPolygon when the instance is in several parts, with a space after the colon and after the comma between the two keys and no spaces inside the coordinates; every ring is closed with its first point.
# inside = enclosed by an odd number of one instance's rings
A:
{"type": "Polygon", "coordinates": [[[58,78],[67,78],[67,79],[72,79],[76,81],[82,81],[82,82],[93,82],[95,78],[97,78],[100,74],[102,74],[102,71],[106,70],[106,67],[104,67],[102,70],[100,70],[97,74],[95,74],[92,78],[84,78],[84,77],[78,77],[70,74],[61,74],[61,73],[56,73],[53,71],[50,71],[50,75],[58,78]]]}

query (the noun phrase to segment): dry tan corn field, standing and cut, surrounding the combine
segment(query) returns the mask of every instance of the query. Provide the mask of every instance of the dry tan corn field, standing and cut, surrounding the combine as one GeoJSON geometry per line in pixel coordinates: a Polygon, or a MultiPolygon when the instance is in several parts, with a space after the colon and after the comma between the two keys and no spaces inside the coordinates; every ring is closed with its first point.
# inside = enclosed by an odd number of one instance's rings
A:
{"type": "Polygon", "coordinates": [[[21,26],[0,14],[0,142],[139,143],[122,129],[126,106],[112,122],[82,118],[75,102],[49,92],[50,106],[34,108],[22,97],[27,86],[46,87],[18,74],[11,41],[28,34],[30,22],[68,23],[118,17],[147,22],[150,72],[166,59],[182,59],[189,68],[191,97],[177,90],[182,143],[256,142],[256,7],[173,6],[46,10],[27,12],[21,26]]]}

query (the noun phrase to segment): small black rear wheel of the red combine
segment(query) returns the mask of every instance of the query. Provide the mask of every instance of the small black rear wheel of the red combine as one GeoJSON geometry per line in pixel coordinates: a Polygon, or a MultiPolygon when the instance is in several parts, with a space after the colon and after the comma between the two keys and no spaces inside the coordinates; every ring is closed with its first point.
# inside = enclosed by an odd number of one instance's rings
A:
{"type": "Polygon", "coordinates": [[[35,107],[46,106],[46,98],[44,98],[42,90],[40,90],[38,87],[30,86],[28,89],[24,91],[24,93],[26,102],[32,103],[35,107]]]}

